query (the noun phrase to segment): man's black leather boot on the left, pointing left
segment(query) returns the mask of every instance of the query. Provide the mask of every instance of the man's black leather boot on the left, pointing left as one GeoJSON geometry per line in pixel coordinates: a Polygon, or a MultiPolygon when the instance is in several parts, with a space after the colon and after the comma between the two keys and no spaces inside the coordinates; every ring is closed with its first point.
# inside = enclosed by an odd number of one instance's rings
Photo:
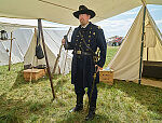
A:
{"type": "Polygon", "coordinates": [[[81,111],[83,109],[83,96],[77,95],[77,105],[70,112],[81,111]]]}

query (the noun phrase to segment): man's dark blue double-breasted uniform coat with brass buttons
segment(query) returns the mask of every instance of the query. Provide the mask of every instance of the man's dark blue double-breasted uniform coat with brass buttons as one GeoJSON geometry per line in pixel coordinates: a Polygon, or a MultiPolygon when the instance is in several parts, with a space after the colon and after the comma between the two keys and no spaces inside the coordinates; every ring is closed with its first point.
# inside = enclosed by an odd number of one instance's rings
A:
{"type": "MultiPolygon", "coordinates": [[[[92,53],[87,46],[83,43],[83,39],[79,35],[79,30],[83,36],[86,44],[95,53],[97,47],[100,51],[100,59],[94,63],[93,55],[78,55],[73,54],[71,66],[71,83],[76,86],[89,87],[93,83],[93,73],[95,72],[95,64],[103,67],[106,60],[106,40],[98,26],[90,23],[85,28],[79,26],[73,30],[71,42],[68,42],[68,50],[83,51],[92,53]]],[[[99,82],[99,74],[96,76],[96,83],[99,82]]]]}

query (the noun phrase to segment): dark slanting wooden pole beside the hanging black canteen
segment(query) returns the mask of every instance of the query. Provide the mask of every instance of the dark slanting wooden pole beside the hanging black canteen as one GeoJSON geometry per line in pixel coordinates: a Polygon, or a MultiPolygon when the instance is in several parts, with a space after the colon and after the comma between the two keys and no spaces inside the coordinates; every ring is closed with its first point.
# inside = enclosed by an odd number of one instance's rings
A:
{"type": "Polygon", "coordinates": [[[42,44],[43,44],[43,50],[44,50],[44,55],[45,55],[45,62],[46,62],[46,67],[48,67],[48,74],[49,74],[49,78],[50,78],[51,88],[52,88],[52,94],[53,94],[53,100],[54,100],[55,93],[54,93],[54,87],[53,87],[53,82],[52,82],[52,76],[51,76],[49,60],[48,60],[48,54],[46,54],[46,50],[45,50],[45,43],[44,43],[44,36],[43,36],[43,29],[42,29],[41,18],[38,19],[38,25],[39,25],[40,31],[41,31],[42,44]]]}

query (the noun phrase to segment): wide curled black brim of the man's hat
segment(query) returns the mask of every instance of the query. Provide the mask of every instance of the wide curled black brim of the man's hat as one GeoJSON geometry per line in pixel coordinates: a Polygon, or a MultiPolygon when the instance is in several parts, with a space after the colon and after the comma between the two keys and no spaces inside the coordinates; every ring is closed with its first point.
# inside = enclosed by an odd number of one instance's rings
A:
{"type": "Polygon", "coordinates": [[[76,18],[79,18],[80,14],[89,14],[89,15],[91,15],[90,18],[93,18],[95,16],[95,12],[92,10],[81,10],[81,11],[73,12],[73,16],[76,18]]]}

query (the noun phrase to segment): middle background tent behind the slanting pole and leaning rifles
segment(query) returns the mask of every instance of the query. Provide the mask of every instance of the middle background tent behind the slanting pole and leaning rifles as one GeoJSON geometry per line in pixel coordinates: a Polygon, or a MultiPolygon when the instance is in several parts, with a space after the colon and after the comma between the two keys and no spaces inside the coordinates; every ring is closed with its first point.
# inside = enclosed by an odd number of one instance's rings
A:
{"type": "MultiPolygon", "coordinates": [[[[68,30],[52,30],[52,29],[43,29],[44,40],[45,40],[45,47],[49,58],[49,64],[51,71],[53,70],[57,54],[59,52],[59,47],[62,44],[63,37],[67,33],[68,30]]],[[[25,60],[24,65],[45,65],[45,58],[37,59],[35,56],[36,54],[36,44],[37,44],[37,38],[32,37],[32,41],[30,43],[30,46],[25,54],[25,60]]],[[[42,45],[42,44],[41,44],[42,45]]],[[[43,49],[43,46],[42,46],[43,49]]],[[[63,73],[65,69],[65,73],[68,73],[71,69],[71,52],[67,54],[67,60],[65,66],[65,59],[66,59],[66,51],[64,47],[62,49],[62,54],[59,58],[59,63],[56,69],[56,73],[63,73]]]]}

